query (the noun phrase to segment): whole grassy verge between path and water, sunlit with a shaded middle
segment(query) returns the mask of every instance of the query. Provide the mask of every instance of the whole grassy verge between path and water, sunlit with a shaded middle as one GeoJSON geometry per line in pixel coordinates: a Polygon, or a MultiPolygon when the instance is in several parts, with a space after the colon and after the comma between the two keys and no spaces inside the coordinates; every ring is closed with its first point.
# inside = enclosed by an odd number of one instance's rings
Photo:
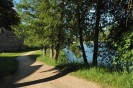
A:
{"type": "Polygon", "coordinates": [[[71,72],[71,75],[99,83],[103,88],[133,88],[133,73],[111,72],[105,68],[84,66],[76,63],[66,64],[66,58],[64,60],[63,58],[64,55],[62,54],[59,61],[55,62],[55,60],[48,57],[43,58],[41,55],[38,60],[60,69],[67,69],[71,72]]]}

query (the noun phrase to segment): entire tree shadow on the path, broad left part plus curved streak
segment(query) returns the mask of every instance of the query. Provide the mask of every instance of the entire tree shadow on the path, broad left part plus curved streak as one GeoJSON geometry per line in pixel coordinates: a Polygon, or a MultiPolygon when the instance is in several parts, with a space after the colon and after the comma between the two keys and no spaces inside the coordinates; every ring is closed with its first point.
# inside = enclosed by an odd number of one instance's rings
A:
{"type": "Polygon", "coordinates": [[[20,56],[19,64],[21,65],[21,67],[19,67],[18,72],[16,73],[16,75],[14,75],[12,78],[10,78],[11,79],[10,82],[4,83],[4,86],[3,87],[0,86],[0,88],[17,88],[17,87],[25,87],[25,86],[30,86],[30,85],[34,85],[34,84],[44,83],[44,82],[52,81],[52,80],[58,79],[60,77],[63,77],[65,75],[67,75],[68,73],[76,70],[76,69],[72,69],[72,70],[71,69],[62,69],[61,70],[61,69],[58,69],[58,67],[55,67],[55,68],[51,68],[49,70],[40,72],[40,73],[44,73],[44,72],[56,70],[55,75],[53,75],[53,76],[49,76],[47,78],[37,79],[37,80],[29,81],[29,82],[16,83],[17,81],[30,76],[36,70],[38,70],[40,67],[43,66],[43,64],[31,66],[36,61],[37,57],[38,57],[38,55],[20,56]],[[27,59],[27,58],[32,58],[32,60],[29,61],[29,59],[27,59]]]}

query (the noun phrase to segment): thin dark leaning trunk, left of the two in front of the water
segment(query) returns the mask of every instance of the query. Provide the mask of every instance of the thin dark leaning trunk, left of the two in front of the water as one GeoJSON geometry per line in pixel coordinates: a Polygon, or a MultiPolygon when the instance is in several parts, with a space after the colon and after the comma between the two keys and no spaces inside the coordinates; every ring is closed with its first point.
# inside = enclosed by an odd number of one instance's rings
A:
{"type": "Polygon", "coordinates": [[[82,50],[82,55],[83,55],[83,59],[84,59],[84,64],[88,64],[87,62],[87,58],[86,58],[86,53],[85,53],[85,49],[83,46],[83,29],[82,29],[82,22],[81,22],[81,14],[80,14],[80,4],[78,4],[78,30],[79,30],[79,41],[80,41],[80,46],[81,46],[81,50],[82,50]]]}

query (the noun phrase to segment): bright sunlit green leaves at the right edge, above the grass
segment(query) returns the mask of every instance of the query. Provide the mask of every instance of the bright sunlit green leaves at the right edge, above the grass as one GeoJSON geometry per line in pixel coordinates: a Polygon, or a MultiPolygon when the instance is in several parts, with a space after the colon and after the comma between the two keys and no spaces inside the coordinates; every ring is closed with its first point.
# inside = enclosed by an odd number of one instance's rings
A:
{"type": "Polygon", "coordinates": [[[123,33],[122,41],[118,46],[118,52],[121,59],[133,60],[133,29],[123,33]]]}

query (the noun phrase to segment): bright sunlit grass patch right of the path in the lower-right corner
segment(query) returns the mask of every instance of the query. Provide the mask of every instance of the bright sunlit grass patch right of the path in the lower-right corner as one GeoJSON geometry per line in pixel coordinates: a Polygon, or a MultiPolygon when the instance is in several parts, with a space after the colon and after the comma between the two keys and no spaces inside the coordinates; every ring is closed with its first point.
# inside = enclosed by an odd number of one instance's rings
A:
{"type": "Polygon", "coordinates": [[[104,68],[88,67],[78,69],[71,73],[74,76],[95,81],[103,85],[104,88],[133,88],[133,74],[110,72],[104,68]]]}

